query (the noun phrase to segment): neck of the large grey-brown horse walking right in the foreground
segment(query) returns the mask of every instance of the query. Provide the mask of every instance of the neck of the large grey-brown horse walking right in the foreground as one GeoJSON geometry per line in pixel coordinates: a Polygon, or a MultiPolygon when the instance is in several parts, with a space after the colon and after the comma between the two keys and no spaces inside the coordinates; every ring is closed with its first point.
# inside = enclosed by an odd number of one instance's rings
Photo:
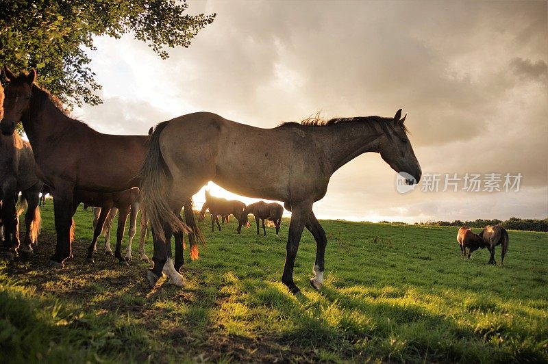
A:
{"type": "Polygon", "coordinates": [[[379,152],[381,133],[362,122],[348,122],[327,127],[316,127],[319,147],[329,172],[334,173],[352,159],[367,152],[379,152]]]}

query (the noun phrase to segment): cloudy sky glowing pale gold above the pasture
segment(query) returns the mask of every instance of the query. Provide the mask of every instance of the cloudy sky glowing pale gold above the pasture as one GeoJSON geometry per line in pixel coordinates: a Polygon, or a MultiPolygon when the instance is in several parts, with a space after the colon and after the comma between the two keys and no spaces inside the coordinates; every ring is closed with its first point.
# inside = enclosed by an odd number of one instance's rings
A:
{"type": "Polygon", "coordinates": [[[397,173],[366,153],[332,176],[318,218],[548,217],[546,1],[188,3],[215,21],[167,60],[131,35],[96,38],[88,55],[104,103],[73,114],[144,135],[199,111],[271,128],[403,109],[423,179],[401,193],[397,173]]]}

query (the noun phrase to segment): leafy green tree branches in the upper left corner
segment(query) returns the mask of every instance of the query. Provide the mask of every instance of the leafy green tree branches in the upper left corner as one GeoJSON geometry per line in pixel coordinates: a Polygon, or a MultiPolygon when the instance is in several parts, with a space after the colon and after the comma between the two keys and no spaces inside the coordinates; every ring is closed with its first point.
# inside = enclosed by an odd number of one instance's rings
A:
{"type": "Polygon", "coordinates": [[[132,33],[162,59],[166,47],[188,47],[215,14],[184,14],[175,0],[3,0],[0,62],[12,70],[36,68],[39,82],[66,105],[101,103],[101,85],[88,66],[94,36],[132,33]]]}

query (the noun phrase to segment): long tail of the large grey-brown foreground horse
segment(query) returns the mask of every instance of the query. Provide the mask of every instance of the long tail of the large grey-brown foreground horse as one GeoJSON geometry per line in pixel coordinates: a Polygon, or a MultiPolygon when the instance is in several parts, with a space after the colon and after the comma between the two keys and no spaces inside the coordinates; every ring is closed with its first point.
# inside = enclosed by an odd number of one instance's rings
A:
{"type": "Polygon", "coordinates": [[[149,216],[155,237],[165,242],[164,222],[169,224],[173,231],[188,233],[190,229],[179,219],[179,214],[173,213],[169,206],[169,187],[173,177],[160,151],[160,134],[169,121],[161,122],[156,126],[149,139],[147,156],[140,170],[142,203],[149,216]]]}

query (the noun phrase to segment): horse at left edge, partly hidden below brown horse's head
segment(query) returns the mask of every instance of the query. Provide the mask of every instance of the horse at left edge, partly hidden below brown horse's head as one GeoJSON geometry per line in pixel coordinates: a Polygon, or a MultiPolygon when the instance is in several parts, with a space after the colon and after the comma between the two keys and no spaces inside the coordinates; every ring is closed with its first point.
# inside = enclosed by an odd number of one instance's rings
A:
{"type": "Polygon", "coordinates": [[[36,177],[30,144],[17,133],[10,136],[0,135],[0,211],[4,229],[2,255],[5,259],[13,260],[17,251],[23,257],[32,257],[32,244],[36,244],[40,232],[38,194],[41,189],[42,182],[36,177]],[[16,209],[19,192],[23,205],[16,209]],[[20,248],[18,216],[25,205],[26,231],[20,248]]]}

